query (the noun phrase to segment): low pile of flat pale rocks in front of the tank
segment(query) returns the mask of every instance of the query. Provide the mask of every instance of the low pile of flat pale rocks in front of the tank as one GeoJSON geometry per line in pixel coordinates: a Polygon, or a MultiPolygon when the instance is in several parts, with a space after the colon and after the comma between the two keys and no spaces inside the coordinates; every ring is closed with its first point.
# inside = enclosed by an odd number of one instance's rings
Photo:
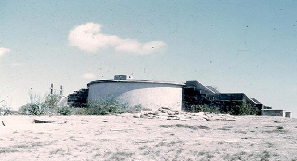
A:
{"type": "Polygon", "coordinates": [[[148,118],[148,119],[167,119],[167,120],[226,120],[236,121],[236,117],[229,114],[212,114],[212,113],[187,113],[184,111],[174,111],[170,107],[161,107],[157,111],[141,111],[134,114],[135,118],[148,118]]]}

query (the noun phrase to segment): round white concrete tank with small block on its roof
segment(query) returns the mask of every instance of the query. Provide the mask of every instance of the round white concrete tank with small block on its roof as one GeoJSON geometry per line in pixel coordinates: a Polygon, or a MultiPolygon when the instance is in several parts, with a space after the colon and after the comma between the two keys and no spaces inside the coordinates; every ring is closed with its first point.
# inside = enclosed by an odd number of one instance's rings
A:
{"type": "Polygon", "coordinates": [[[133,80],[131,76],[115,75],[114,80],[91,81],[88,102],[114,96],[130,106],[141,104],[143,108],[157,110],[160,107],[182,109],[182,88],[184,83],[153,80],[133,80]]]}

